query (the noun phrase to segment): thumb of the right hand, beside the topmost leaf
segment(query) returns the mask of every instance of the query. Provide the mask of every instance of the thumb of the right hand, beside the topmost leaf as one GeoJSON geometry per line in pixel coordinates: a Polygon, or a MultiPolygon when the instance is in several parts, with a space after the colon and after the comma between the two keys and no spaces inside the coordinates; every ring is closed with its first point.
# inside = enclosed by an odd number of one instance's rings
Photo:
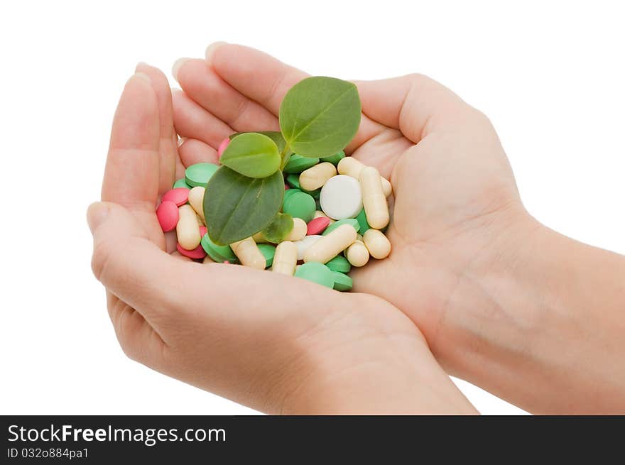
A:
{"type": "Polygon", "coordinates": [[[354,82],[363,113],[399,129],[414,143],[429,131],[462,122],[476,112],[450,89],[423,75],[354,82]]]}

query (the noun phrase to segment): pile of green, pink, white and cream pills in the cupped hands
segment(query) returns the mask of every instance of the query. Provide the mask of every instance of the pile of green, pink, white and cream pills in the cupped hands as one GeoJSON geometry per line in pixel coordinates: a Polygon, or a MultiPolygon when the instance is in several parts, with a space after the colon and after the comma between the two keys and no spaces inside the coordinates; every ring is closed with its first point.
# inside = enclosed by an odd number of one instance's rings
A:
{"type": "MultiPolygon", "coordinates": [[[[229,143],[219,146],[219,156],[229,143]]],[[[347,273],[369,258],[386,258],[391,243],[384,235],[391,183],[376,168],[341,151],[325,158],[291,155],[285,166],[282,212],[293,217],[293,229],[279,244],[259,232],[229,246],[207,234],[205,187],[219,168],[213,163],[190,165],[185,177],[161,197],[156,216],[163,231],[175,229],[178,251],[204,263],[240,263],[325,285],[352,289],[347,273]]]]}

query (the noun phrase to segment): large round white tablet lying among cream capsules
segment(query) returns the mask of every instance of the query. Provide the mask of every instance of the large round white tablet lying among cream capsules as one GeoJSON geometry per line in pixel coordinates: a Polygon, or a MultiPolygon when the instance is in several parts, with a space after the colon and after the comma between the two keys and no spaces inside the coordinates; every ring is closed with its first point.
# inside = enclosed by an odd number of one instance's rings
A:
{"type": "Polygon", "coordinates": [[[354,177],[330,177],[321,188],[321,209],[332,219],[355,218],[362,210],[360,182],[354,177]]]}

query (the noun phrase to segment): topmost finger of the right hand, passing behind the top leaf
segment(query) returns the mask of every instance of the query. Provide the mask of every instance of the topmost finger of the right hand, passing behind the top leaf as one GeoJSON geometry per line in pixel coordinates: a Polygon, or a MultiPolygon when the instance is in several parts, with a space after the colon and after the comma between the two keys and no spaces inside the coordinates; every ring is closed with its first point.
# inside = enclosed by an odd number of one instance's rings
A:
{"type": "MultiPolygon", "coordinates": [[[[206,60],[225,82],[241,94],[259,102],[278,115],[286,92],[308,75],[254,48],[214,43],[206,50],[206,60]]],[[[349,154],[365,141],[384,131],[384,126],[363,115],[358,133],[347,146],[349,154]]]]}

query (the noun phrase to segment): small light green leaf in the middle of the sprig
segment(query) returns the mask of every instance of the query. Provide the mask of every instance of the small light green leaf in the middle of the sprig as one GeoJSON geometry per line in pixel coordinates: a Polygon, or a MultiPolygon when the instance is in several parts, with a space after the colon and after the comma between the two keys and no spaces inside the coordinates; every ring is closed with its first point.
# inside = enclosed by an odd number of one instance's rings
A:
{"type": "Polygon", "coordinates": [[[246,133],[230,141],[222,165],[247,177],[267,177],[280,168],[281,158],[276,143],[259,133],[246,133]]]}

